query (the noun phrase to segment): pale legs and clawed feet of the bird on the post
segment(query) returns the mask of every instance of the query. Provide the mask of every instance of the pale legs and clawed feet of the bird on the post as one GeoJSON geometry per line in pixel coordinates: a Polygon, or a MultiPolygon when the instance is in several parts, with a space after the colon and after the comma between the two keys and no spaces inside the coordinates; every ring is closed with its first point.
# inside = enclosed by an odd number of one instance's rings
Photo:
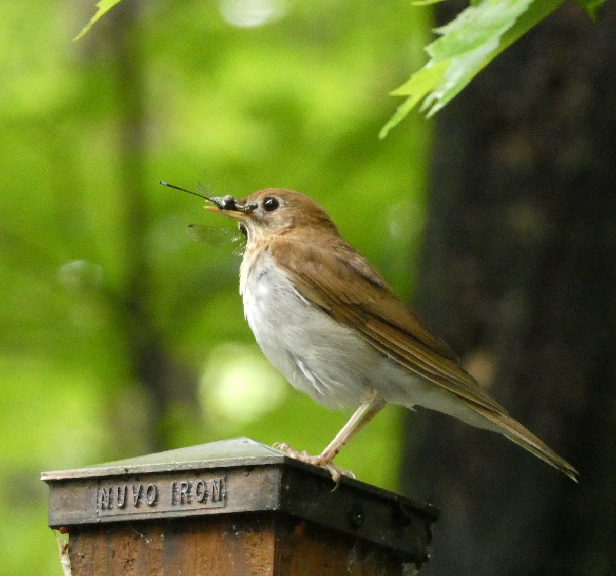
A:
{"type": "Polygon", "coordinates": [[[344,470],[344,468],[340,466],[336,466],[331,463],[331,461],[336,457],[338,452],[342,450],[342,447],[351,440],[355,434],[362,430],[363,426],[367,425],[381,409],[383,409],[385,404],[386,402],[378,395],[377,391],[374,388],[370,388],[363,395],[362,404],[360,404],[359,408],[355,410],[354,414],[349,418],[349,422],[342,426],[342,430],[336,434],[336,437],[318,456],[310,456],[306,452],[299,452],[286,444],[286,442],[277,442],[274,446],[280,450],[284,450],[291,457],[296,458],[296,460],[327,468],[334,482],[338,482],[341,475],[349,476],[352,475],[352,473],[349,473],[349,471],[344,470]]]}

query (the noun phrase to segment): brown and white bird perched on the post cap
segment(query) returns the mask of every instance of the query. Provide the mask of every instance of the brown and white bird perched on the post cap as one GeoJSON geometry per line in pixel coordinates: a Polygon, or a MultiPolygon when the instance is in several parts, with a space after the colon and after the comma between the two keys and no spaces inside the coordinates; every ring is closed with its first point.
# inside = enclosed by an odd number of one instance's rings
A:
{"type": "MultiPolygon", "coordinates": [[[[174,186],[175,187],[175,186],[174,186]]],[[[204,198],[206,198],[204,196],[204,198]]],[[[423,406],[509,440],[578,481],[578,472],[510,417],[382,274],[348,244],[328,213],[302,193],[267,188],[243,200],[206,198],[206,209],[238,222],[245,318],[272,365],[297,390],[330,409],[355,409],[318,455],[275,444],[323,466],[388,403],[423,406]]]]}

